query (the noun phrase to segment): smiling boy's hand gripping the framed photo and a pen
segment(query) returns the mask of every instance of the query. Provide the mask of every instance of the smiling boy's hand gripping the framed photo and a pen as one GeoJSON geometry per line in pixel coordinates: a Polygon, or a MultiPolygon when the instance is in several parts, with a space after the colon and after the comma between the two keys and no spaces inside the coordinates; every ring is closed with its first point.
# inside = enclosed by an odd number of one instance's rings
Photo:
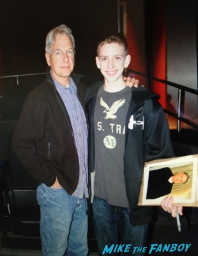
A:
{"type": "Polygon", "coordinates": [[[173,204],[173,201],[174,201],[174,197],[169,195],[169,196],[166,196],[164,198],[164,200],[162,201],[162,209],[164,209],[165,212],[169,212],[171,213],[172,217],[176,217],[176,210],[178,210],[179,212],[179,215],[183,215],[183,207],[182,206],[175,206],[173,204]]]}

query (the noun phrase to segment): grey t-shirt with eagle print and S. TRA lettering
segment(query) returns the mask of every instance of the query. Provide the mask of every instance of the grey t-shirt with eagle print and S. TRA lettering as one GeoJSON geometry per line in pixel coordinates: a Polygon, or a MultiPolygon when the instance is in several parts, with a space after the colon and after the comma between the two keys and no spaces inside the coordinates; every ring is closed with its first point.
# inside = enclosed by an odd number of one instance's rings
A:
{"type": "Polygon", "coordinates": [[[95,196],[110,205],[128,207],[124,163],[125,122],[132,89],[98,91],[95,113],[95,196]]]}

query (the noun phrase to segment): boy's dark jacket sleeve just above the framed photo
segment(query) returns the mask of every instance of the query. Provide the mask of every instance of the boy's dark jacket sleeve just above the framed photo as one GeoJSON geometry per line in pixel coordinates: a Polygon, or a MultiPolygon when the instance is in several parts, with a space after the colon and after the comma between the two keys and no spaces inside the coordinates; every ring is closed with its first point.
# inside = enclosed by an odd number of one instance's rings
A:
{"type": "Polygon", "coordinates": [[[144,116],[145,161],[174,157],[167,118],[157,100],[145,103],[144,116]]]}

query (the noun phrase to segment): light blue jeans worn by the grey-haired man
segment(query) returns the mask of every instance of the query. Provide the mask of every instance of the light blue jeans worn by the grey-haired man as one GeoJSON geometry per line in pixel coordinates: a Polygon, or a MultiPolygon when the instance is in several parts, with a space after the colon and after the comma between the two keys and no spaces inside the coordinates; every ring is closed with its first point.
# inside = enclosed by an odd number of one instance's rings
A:
{"type": "Polygon", "coordinates": [[[70,196],[65,189],[37,188],[40,233],[44,256],[87,256],[87,200],[70,196]]]}

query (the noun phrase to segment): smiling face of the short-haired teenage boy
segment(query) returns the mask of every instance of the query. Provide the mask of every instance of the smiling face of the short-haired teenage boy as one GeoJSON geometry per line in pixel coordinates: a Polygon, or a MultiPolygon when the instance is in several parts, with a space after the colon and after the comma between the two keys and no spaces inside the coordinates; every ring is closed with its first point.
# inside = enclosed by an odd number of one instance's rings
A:
{"type": "Polygon", "coordinates": [[[125,56],[123,45],[117,43],[105,44],[96,57],[96,65],[106,81],[115,82],[123,77],[124,68],[130,63],[130,55],[125,56]]]}

